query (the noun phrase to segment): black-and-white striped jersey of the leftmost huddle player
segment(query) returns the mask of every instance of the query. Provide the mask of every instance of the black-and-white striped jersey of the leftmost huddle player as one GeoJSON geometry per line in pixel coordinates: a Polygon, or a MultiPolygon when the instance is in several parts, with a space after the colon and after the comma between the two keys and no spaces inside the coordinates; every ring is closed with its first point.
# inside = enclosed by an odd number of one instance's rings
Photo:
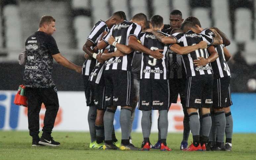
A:
{"type": "MultiPolygon", "coordinates": [[[[93,47],[97,45],[97,42],[101,38],[103,32],[104,31],[107,32],[108,30],[109,29],[107,27],[107,24],[103,20],[98,21],[94,25],[90,35],[87,37],[87,40],[91,41],[94,44],[94,46],[92,46],[91,49],[93,49],[93,47]]],[[[82,67],[82,74],[89,76],[94,66],[96,65],[96,63],[97,63],[97,60],[94,58],[92,58],[91,60],[85,60],[82,67]]]]}

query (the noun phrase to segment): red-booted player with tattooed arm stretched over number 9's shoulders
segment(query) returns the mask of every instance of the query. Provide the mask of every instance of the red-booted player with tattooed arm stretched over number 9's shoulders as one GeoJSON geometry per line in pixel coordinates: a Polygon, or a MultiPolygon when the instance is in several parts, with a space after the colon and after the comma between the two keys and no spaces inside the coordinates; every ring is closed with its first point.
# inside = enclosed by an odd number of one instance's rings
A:
{"type": "MultiPolygon", "coordinates": [[[[161,42],[170,44],[170,43],[178,43],[180,46],[191,46],[199,43],[204,40],[208,45],[212,44],[221,44],[222,39],[218,33],[216,33],[215,38],[207,37],[206,35],[201,35],[200,30],[198,30],[193,23],[185,21],[182,24],[182,30],[186,33],[175,33],[170,37],[165,37],[156,31],[151,30],[153,34],[159,39],[161,42]]],[[[214,31],[216,32],[216,31],[214,31]]],[[[179,47],[177,45],[172,45],[171,50],[179,54],[179,47]]],[[[183,55],[183,61],[185,64],[186,72],[187,72],[187,82],[186,82],[186,107],[187,112],[190,116],[190,127],[193,135],[193,143],[190,145],[187,151],[201,150],[201,145],[199,143],[199,130],[200,130],[200,122],[198,118],[197,109],[201,108],[203,114],[203,142],[206,143],[209,132],[211,129],[211,118],[210,109],[212,105],[212,69],[210,61],[215,60],[218,57],[217,52],[214,47],[209,47],[208,51],[212,53],[209,57],[206,49],[196,50],[191,52],[188,55],[183,55]],[[202,65],[194,65],[193,60],[205,58],[206,63],[202,65]]],[[[205,144],[203,144],[203,148],[205,148],[205,144]]]]}

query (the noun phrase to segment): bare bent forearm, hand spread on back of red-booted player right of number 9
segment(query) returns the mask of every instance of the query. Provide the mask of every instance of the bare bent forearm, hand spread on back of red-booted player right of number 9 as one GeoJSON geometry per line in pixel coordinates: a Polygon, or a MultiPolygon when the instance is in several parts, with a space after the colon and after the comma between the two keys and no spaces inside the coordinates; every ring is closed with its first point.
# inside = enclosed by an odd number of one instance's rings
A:
{"type": "Polygon", "coordinates": [[[211,53],[211,56],[209,56],[207,59],[203,58],[203,57],[199,57],[199,60],[194,60],[194,64],[196,66],[205,66],[206,64],[213,62],[214,60],[216,60],[219,55],[217,53],[217,51],[215,50],[214,46],[210,46],[208,47],[208,52],[211,53]]]}

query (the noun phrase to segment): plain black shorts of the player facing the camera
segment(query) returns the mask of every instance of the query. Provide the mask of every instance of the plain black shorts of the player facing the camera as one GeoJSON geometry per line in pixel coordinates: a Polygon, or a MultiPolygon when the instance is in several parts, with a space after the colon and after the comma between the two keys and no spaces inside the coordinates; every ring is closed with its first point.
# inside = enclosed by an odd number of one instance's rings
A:
{"type": "Polygon", "coordinates": [[[177,103],[178,96],[180,94],[182,106],[186,105],[185,99],[185,88],[186,88],[186,78],[180,79],[169,79],[170,84],[170,103],[177,103]]]}

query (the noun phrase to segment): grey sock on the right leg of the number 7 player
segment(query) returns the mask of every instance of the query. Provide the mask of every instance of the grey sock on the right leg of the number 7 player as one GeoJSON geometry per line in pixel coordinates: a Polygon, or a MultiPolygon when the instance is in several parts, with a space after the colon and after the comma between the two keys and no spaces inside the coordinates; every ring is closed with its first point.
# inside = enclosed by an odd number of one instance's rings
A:
{"type": "Polygon", "coordinates": [[[130,122],[131,122],[131,110],[126,108],[121,108],[120,126],[121,126],[122,140],[129,140],[130,122]]]}

